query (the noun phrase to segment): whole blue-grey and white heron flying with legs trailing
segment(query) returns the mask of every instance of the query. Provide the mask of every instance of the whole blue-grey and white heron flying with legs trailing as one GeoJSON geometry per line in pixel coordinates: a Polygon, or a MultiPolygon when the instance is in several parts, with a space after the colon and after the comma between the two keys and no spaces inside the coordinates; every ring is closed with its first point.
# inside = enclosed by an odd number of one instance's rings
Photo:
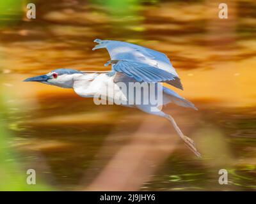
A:
{"type": "MultiPolygon", "coordinates": [[[[179,106],[197,110],[193,103],[182,98],[172,89],[168,89],[162,85],[161,82],[166,82],[167,84],[183,90],[179,75],[175,71],[175,68],[173,68],[168,57],[156,50],[123,41],[96,39],[94,42],[99,44],[95,45],[92,50],[99,48],[106,48],[108,50],[111,59],[105,66],[111,64],[111,71],[55,69],[45,75],[27,78],[24,81],[40,82],[74,89],[76,94],[84,98],[105,96],[107,100],[109,100],[109,98],[114,99],[113,102],[117,105],[138,108],[145,113],[164,117],[172,123],[178,135],[189,149],[191,149],[196,156],[200,157],[200,153],[196,150],[195,142],[182,133],[171,115],[164,113],[161,108],[159,108],[161,105],[175,103],[179,106]],[[120,96],[123,97],[123,101],[127,101],[131,98],[127,90],[124,90],[120,86],[120,83],[125,85],[130,83],[137,83],[137,85],[140,85],[141,83],[157,85],[157,90],[160,90],[163,93],[161,95],[161,100],[159,100],[161,103],[152,104],[143,103],[143,101],[141,103],[135,103],[134,101],[134,103],[129,104],[120,103],[120,96]],[[112,91],[106,91],[106,89],[112,91]]],[[[133,94],[132,96],[135,95],[133,94]]],[[[158,95],[156,91],[153,94],[145,94],[144,96],[151,99],[158,95]]],[[[157,98],[157,100],[158,99],[159,98],[157,98]]],[[[136,100],[136,98],[134,100],[136,100]]]]}

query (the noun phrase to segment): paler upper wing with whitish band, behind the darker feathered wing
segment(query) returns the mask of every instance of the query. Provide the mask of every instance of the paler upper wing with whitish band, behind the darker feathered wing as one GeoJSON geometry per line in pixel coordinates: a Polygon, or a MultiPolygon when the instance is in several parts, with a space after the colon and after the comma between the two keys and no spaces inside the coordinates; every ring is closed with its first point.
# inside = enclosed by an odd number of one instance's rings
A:
{"type": "Polygon", "coordinates": [[[93,50],[98,48],[106,48],[109,52],[111,60],[130,60],[141,62],[153,66],[154,68],[163,69],[179,77],[175,68],[173,68],[170,59],[162,52],[157,52],[150,48],[134,45],[132,43],[114,41],[114,40],[95,40],[99,43],[93,50]]]}

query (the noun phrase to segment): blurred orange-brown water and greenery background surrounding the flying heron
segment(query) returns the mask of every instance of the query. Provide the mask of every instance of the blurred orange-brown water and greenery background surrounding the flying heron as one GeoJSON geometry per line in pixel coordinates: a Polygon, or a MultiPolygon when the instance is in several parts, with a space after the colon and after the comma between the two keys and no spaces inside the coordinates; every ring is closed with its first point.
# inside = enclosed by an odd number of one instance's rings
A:
{"type": "Polygon", "coordinates": [[[256,3],[51,0],[0,2],[0,190],[255,191],[256,3]],[[26,5],[35,3],[36,19],[26,5]],[[164,52],[198,111],[168,105],[197,159],[167,120],[96,106],[72,89],[25,83],[56,68],[106,70],[93,40],[164,52]],[[36,171],[36,185],[26,171],[36,171]],[[218,171],[228,171],[220,185],[218,171]]]}

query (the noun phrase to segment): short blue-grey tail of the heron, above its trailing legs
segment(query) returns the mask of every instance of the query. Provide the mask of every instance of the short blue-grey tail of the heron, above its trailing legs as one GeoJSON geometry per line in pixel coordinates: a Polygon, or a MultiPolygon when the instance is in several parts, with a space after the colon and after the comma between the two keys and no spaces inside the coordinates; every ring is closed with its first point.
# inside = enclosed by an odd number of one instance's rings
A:
{"type": "Polygon", "coordinates": [[[193,108],[195,110],[198,110],[196,106],[191,103],[190,101],[182,98],[177,94],[175,91],[172,91],[172,89],[168,89],[167,87],[163,87],[163,92],[166,94],[166,98],[168,98],[168,101],[166,101],[165,104],[173,102],[176,105],[187,107],[187,108],[193,108]]]}

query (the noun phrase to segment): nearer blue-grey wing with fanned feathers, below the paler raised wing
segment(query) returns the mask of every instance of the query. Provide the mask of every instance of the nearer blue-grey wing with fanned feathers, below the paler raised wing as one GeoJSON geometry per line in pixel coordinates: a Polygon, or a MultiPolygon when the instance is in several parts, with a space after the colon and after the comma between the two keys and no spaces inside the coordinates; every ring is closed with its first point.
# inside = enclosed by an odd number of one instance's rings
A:
{"type": "Polygon", "coordinates": [[[163,69],[134,61],[115,61],[114,71],[125,73],[128,77],[134,78],[138,82],[167,82],[179,89],[182,88],[179,77],[163,69]]]}

